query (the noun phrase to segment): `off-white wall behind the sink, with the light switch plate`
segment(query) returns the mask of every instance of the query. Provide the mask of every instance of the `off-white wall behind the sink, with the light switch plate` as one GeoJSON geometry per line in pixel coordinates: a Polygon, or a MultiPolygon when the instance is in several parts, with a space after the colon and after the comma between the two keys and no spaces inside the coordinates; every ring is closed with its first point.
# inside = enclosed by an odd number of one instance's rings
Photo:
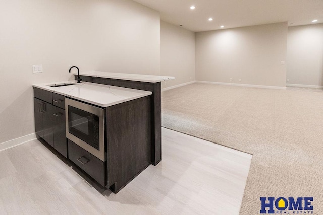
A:
{"type": "Polygon", "coordinates": [[[71,79],[71,66],[159,75],[159,20],[130,0],[0,1],[0,143],[34,132],[31,85],[71,79]]]}

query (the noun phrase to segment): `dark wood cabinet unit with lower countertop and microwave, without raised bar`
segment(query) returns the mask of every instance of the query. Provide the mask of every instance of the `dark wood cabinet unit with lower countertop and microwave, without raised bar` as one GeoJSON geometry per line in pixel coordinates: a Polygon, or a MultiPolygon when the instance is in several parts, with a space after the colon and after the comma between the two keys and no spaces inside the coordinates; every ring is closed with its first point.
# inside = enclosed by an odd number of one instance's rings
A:
{"type": "Polygon", "coordinates": [[[151,164],[152,92],[90,82],[34,84],[35,131],[119,192],[151,164]]]}

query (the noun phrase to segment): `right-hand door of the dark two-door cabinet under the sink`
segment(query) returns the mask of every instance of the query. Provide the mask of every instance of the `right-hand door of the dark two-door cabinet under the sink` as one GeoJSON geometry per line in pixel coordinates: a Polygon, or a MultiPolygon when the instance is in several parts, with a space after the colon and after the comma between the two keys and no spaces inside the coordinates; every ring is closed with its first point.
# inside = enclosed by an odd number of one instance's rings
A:
{"type": "Polygon", "coordinates": [[[43,139],[50,145],[54,146],[54,133],[53,133],[53,123],[55,121],[53,114],[53,105],[45,102],[45,107],[42,110],[43,115],[43,129],[44,137],[43,139]]]}

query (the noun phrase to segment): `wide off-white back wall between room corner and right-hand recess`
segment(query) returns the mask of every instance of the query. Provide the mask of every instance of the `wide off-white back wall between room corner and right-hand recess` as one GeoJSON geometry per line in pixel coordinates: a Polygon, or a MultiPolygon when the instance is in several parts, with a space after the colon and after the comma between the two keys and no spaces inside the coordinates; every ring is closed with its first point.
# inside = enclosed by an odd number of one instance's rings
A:
{"type": "Polygon", "coordinates": [[[285,87],[286,49],[287,22],[198,32],[196,80],[285,87]]]}

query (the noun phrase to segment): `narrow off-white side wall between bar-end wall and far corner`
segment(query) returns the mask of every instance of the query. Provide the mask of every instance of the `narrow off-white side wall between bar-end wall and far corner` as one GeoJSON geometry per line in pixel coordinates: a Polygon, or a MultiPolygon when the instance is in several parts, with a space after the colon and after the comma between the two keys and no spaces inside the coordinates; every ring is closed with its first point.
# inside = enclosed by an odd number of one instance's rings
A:
{"type": "Polygon", "coordinates": [[[160,21],[160,73],[175,76],[163,88],[195,80],[194,32],[160,21]]]}

